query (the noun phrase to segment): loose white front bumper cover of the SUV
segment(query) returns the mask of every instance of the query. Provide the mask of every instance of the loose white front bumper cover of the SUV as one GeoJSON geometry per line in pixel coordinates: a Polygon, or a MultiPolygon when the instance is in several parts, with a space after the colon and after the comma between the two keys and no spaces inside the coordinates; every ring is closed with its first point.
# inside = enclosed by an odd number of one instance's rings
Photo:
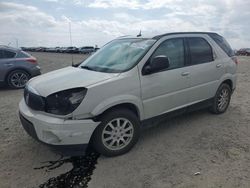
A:
{"type": "Polygon", "coordinates": [[[33,138],[54,146],[88,144],[100,122],[93,120],[64,120],[31,110],[24,99],[19,103],[20,120],[33,138]]]}

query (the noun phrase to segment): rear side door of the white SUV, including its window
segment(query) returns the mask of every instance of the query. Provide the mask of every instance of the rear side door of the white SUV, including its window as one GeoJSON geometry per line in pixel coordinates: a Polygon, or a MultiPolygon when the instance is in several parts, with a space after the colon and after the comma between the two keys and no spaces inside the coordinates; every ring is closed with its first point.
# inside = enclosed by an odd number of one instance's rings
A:
{"type": "Polygon", "coordinates": [[[214,97],[219,80],[224,74],[224,65],[217,59],[210,38],[206,36],[187,37],[190,72],[189,103],[196,103],[214,97]]]}

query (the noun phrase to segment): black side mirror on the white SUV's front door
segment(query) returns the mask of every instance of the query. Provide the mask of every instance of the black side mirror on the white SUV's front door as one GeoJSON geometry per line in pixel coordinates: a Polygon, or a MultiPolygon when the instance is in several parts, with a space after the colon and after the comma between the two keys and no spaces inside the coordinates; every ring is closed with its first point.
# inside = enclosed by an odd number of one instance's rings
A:
{"type": "Polygon", "coordinates": [[[142,70],[142,75],[153,74],[155,72],[163,71],[169,67],[169,60],[167,56],[159,55],[152,59],[142,70]]]}

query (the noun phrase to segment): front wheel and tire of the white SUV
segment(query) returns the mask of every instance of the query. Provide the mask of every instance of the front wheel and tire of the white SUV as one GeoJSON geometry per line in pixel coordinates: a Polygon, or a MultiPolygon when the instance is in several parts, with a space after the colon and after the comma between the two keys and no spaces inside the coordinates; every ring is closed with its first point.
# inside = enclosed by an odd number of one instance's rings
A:
{"type": "Polygon", "coordinates": [[[115,109],[102,116],[91,143],[100,154],[113,157],[128,152],[138,141],[139,134],[137,116],[127,109],[115,109]]]}

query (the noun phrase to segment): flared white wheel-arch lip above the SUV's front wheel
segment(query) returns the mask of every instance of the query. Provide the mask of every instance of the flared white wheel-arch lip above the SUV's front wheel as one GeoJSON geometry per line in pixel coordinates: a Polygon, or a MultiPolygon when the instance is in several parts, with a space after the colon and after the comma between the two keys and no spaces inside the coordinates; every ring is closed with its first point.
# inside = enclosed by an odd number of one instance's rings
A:
{"type": "Polygon", "coordinates": [[[140,119],[141,120],[144,119],[142,101],[140,100],[139,97],[136,97],[134,95],[119,95],[116,97],[110,97],[104,100],[102,103],[98,104],[92,110],[91,114],[93,116],[98,116],[113,106],[125,103],[133,104],[137,108],[138,114],[140,115],[140,119]]]}

